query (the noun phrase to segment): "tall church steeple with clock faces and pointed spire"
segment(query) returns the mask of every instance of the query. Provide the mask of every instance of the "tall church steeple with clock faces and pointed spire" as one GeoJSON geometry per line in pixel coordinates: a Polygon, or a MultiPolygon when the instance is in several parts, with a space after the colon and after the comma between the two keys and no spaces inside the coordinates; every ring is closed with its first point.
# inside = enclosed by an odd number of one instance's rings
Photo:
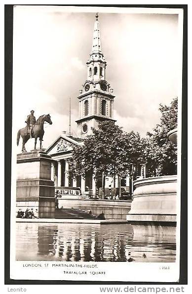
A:
{"type": "Polygon", "coordinates": [[[87,80],[79,90],[79,119],[77,132],[80,138],[91,134],[91,127],[97,128],[102,121],[113,121],[113,89],[106,81],[106,66],[101,50],[98,13],[94,24],[93,45],[87,64],[87,80]]]}

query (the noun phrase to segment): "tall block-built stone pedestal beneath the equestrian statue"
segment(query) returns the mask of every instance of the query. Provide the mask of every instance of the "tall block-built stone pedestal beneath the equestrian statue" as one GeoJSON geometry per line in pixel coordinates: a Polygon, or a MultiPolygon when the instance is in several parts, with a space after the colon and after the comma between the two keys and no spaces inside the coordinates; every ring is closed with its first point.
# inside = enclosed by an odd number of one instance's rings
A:
{"type": "Polygon", "coordinates": [[[38,209],[39,218],[55,217],[51,156],[42,150],[17,154],[17,211],[38,209]]]}

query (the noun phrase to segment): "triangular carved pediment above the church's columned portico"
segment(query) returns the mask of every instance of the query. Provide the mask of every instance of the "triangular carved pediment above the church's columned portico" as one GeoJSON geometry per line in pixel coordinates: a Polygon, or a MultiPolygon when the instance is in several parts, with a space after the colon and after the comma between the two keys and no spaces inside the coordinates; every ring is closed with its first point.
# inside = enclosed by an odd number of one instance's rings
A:
{"type": "Polygon", "coordinates": [[[78,138],[59,136],[46,150],[45,152],[49,155],[56,153],[63,153],[73,150],[74,145],[81,145],[82,141],[78,138]]]}

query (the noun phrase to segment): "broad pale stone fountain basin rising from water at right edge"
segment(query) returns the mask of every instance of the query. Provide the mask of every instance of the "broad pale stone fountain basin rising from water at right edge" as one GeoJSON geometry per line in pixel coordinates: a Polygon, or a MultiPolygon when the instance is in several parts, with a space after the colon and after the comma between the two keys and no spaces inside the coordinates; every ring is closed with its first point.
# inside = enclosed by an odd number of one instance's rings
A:
{"type": "Polygon", "coordinates": [[[142,178],[133,184],[128,221],[176,222],[177,175],[142,178]]]}

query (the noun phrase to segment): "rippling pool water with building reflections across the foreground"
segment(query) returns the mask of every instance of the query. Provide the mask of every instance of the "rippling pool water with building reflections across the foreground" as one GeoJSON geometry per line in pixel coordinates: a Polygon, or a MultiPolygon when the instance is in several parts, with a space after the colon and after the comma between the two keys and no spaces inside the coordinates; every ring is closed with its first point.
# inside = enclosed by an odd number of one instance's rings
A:
{"type": "Polygon", "coordinates": [[[16,223],[16,260],[175,261],[175,228],[16,223]]]}

